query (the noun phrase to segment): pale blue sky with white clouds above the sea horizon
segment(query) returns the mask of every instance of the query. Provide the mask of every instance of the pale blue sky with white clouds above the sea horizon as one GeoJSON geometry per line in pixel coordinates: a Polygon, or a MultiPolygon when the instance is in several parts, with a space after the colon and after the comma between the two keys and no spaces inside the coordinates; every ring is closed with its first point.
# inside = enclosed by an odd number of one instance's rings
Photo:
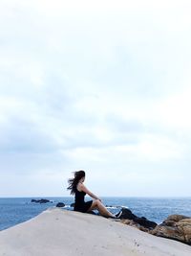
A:
{"type": "Polygon", "coordinates": [[[190,12],[1,0],[0,197],[191,197],[190,12]]]}

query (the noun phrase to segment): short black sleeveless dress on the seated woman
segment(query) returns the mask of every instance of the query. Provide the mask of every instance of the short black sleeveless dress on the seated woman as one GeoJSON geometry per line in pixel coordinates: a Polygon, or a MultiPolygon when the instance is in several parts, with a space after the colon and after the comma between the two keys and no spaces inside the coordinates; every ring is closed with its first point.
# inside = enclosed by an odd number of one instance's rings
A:
{"type": "Polygon", "coordinates": [[[74,211],[86,213],[90,209],[93,200],[90,201],[84,201],[84,198],[86,196],[86,193],[83,191],[78,191],[77,188],[75,188],[75,194],[74,194],[74,211]]]}

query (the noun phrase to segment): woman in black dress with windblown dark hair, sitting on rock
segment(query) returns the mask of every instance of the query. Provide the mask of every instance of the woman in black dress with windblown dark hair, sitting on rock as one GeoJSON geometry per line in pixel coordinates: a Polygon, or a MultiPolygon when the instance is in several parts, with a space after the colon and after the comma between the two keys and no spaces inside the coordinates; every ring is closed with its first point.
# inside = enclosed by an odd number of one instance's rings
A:
{"type": "Polygon", "coordinates": [[[117,218],[115,215],[110,213],[106,207],[101,203],[101,199],[97,198],[95,194],[90,192],[83,184],[85,180],[85,172],[78,171],[74,172],[74,178],[69,179],[68,190],[71,190],[71,195],[74,195],[74,211],[87,213],[92,210],[98,210],[100,215],[107,218],[117,218]],[[95,200],[84,201],[84,198],[88,194],[95,200]]]}

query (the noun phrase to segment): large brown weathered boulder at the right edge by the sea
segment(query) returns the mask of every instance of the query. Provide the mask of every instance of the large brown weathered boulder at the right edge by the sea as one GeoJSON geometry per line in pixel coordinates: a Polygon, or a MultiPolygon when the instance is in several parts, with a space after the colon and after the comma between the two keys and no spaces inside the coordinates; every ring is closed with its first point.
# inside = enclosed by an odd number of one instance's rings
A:
{"type": "Polygon", "coordinates": [[[191,218],[182,215],[171,215],[149,233],[191,244],[191,218]]]}

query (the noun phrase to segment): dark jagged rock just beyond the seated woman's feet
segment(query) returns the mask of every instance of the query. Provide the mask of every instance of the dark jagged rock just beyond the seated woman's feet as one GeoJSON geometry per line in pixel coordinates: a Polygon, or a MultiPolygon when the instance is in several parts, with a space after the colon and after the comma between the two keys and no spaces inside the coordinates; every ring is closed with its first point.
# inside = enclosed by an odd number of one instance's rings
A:
{"type": "Polygon", "coordinates": [[[158,224],[154,221],[149,221],[144,217],[139,218],[135,214],[132,213],[129,209],[122,208],[122,214],[120,216],[120,219],[122,220],[122,223],[136,226],[138,229],[142,231],[149,231],[154,229],[158,224]],[[124,221],[125,220],[125,221],[124,221]]]}

